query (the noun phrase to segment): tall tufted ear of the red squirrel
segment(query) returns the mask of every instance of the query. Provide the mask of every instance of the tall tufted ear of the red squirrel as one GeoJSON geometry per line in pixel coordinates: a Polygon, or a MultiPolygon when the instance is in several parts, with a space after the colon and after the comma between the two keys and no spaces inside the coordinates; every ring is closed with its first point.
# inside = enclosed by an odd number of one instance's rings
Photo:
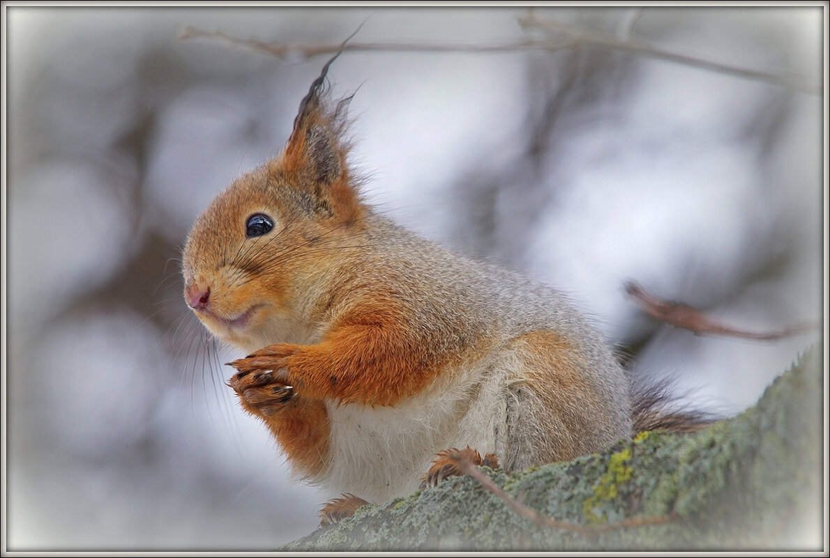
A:
{"type": "Polygon", "coordinates": [[[314,187],[325,187],[339,181],[348,172],[346,154],[349,143],[344,133],[351,97],[331,106],[326,88],[326,74],[338,56],[339,52],[326,62],[300,103],[300,111],[294,119],[294,129],[281,161],[286,172],[296,173],[314,187]]]}

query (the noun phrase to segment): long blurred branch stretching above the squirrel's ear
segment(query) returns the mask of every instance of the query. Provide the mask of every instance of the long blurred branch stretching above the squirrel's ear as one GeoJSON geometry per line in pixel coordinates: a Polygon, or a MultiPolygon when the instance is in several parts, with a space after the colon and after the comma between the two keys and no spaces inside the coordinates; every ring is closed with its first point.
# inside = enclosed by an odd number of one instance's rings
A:
{"type": "Polygon", "coordinates": [[[528,37],[521,41],[493,43],[489,45],[451,45],[427,43],[396,42],[352,42],[343,44],[291,45],[280,42],[266,42],[256,39],[240,39],[221,31],[203,31],[195,27],[184,27],[179,32],[179,39],[198,37],[226,41],[235,46],[243,46],[254,51],[276,56],[281,60],[306,60],[320,54],[333,54],[343,51],[422,51],[422,52],[505,52],[505,51],[561,51],[574,48],[601,48],[627,51],[638,56],[647,56],[659,60],[676,62],[685,66],[694,66],[723,74],[737,75],[750,80],[764,81],[781,85],[791,90],[804,93],[820,94],[822,85],[805,75],[781,71],[753,70],[742,66],[732,66],[718,61],[706,60],[695,56],[686,56],[671,51],[664,51],[632,36],[632,27],[637,22],[641,11],[635,11],[621,22],[616,35],[597,30],[580,29],[553,19],[541,20],[533,12],[519,18],[519,24],[525,30],[538,29],[544,37],[528,37]]]}

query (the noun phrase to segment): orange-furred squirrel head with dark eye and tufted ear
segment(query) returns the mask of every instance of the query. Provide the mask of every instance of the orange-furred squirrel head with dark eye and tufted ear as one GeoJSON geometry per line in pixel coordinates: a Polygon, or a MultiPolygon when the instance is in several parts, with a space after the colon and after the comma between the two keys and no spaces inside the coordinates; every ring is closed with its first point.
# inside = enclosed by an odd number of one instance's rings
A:
{"type": "Polygon", "coordinates": [[[346,109],[330,102],[324,66],[276,158],[238,178],[207,207],[183,253],[184,298],[226,342],[259,348],[301,330],[296,306],[315,274],[360,230],[364,208],[347,164],[346,109]]]}

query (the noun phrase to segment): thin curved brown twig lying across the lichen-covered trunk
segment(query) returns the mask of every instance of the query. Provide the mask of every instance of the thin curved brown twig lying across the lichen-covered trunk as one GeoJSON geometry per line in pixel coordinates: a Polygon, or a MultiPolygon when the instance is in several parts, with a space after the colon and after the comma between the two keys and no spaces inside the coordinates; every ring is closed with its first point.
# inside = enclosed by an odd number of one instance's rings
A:
{"type": "Polygon", "coordinates": [[[675,512],[671,512],[666,516],[657,517],[629,517],[618,522],[613,523],[599,523],[597,525],[579,525],[579,523],[560,522],[547,516],[543,516],[532,507],[527,507],[510,497],[498,484],[494,483],[491,478],[488,478],[481,470],[477,468],[469,459],[466,459],[459,451],[447,452],[447,458],[451,459],[456,466],[464,473],[475,478],[481,483],[481,486],[489,490],[496,497],[503,500],[514,512],[521,517],[525,517],[530,522],[536,525],[548,526],[553,529],[561,529],[564,531],[575,531],[578,533],[597,533],[603,531],[617,531],[619,529],[627,529],[629,527],[640,527],[647,525],[661,525],[675,521],[677,516],[675,512]]]}

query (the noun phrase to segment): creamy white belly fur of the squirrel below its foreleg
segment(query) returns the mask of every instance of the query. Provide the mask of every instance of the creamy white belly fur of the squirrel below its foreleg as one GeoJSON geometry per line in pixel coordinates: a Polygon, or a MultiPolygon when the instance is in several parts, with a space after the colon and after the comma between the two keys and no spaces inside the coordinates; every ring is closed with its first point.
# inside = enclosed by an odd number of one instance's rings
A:
{"type": "Polygon", "coordinates": [[[330,404],[331,460],[320,481],[334,496],[351,492],[380,503],[414,492],[443,449],[501,449],[504,376],[456,378],[393,407],[330,404]]]}

